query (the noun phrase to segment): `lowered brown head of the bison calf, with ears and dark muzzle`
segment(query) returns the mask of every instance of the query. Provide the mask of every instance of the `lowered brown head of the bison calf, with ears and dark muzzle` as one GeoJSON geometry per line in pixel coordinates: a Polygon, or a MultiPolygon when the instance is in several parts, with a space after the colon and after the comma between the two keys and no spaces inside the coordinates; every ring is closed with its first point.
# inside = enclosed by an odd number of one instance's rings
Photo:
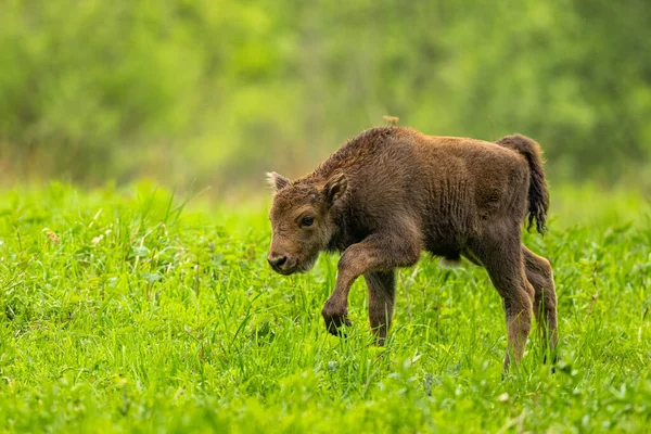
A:
{"type": "Polygon", "coordinates": [[[271,173],[268,179],[276,192],[269,212],[272,238],[267,260],[281,275],[308,271],[336,230],[332,207],[346,192],[346,178],[336,174],[320,182],[292,182],[271,173]]]}

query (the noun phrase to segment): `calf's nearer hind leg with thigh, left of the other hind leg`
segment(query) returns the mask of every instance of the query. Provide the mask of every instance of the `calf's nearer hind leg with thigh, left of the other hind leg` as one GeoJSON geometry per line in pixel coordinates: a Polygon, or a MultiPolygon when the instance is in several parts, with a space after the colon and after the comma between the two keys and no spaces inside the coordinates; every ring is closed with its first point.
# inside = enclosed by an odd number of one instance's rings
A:
{"type": "Polygon", "coordinates": [[[524,355],[534,301],[534,289],[524,272],[520,232],[514,231],[514,234],[495,234],[469,245],[502,298],[508,330],[505,371],[509,369],[511,356],[519,363],[524,355]]]}

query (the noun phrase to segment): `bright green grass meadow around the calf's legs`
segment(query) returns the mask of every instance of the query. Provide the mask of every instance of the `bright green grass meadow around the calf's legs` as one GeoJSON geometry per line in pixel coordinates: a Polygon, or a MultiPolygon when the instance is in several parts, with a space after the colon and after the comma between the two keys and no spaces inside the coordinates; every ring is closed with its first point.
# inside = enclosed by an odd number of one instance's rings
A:
{"type": "Polygon", "coordinates": [[[362,282],[348,339],[320,309],[336,258],[283,278],[265,203],[212,208],[152,186],[0,196],[0,430],[646,432],[651,219],[635,194],[552,191],[560,361],[534,336],[505,380],[500,299],[470,265],[399,278],[386,349],[362,282]],[[52,235],[55,234],[54,235],[52,235]]]}

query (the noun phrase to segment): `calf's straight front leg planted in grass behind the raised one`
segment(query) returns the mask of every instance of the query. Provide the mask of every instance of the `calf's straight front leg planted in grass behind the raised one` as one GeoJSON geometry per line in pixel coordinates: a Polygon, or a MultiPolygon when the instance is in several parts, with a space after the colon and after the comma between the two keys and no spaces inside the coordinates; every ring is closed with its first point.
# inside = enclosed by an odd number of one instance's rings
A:
{"type": "Polygon", "coordinates": [[[369,289],[369,320],[375,334],[375,344],[383,346],[391,328],[396,296],[396,272],[369,271],[363,275],[369,289]]]}

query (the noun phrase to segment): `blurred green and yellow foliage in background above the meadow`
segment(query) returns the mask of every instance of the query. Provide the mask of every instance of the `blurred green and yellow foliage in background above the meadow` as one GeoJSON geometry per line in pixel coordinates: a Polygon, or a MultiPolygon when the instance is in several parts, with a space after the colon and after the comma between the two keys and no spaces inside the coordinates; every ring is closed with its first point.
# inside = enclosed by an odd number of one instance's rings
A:
{"type": "Polygon", "coordinates": [[[648,0],[4,0],[0,177],[253,183],[391,114],[639,180],[650,23],[648,0]]]}

